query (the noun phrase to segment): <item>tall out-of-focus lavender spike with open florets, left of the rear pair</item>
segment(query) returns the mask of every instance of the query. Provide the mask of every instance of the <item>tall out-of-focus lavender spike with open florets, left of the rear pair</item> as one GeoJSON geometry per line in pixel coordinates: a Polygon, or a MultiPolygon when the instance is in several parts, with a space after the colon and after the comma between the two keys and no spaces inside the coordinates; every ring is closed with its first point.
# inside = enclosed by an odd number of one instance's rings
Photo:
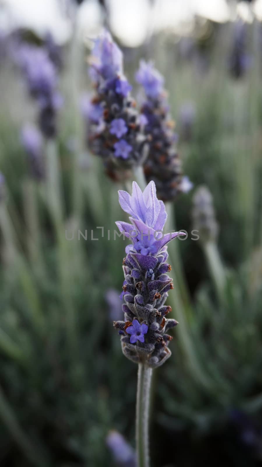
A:
{"type": "Polygon", "coordinates": [[[123,54],[109,32],[97,38],[90,57],[90,77],[96,94],[87,109],[89,145],[106,169],[131,168],[145,158],[143,124],[123,75],[123,54]]]}

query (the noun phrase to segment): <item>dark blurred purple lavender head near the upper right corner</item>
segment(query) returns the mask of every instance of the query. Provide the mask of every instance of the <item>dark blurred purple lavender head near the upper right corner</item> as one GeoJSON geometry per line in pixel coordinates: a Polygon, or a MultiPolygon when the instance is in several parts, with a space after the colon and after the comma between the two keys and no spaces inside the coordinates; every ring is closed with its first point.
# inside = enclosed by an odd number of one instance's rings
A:
{"type": "Polygon", "coordinates": [[[247,25],[239,20],[234,23],[232,51],[228,67],[233,78],[241,78],[252,65],[252,58],[246,50],[247,25]]]}

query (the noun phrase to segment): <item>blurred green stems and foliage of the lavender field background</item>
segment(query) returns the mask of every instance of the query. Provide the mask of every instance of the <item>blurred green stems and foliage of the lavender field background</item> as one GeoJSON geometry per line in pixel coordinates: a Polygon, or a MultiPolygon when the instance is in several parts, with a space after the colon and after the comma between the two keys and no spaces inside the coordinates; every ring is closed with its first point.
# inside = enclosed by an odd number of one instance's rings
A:
{"type": "MultiPolygon", "coordinates": [[[[194,184],[169,206],[176,226],[194,227],[195,195],[205,185],[219,228],[212,239],[189,235],[169,248],[167,304],[179,326],[172,358],[153,379],[155,467],[262,463],[262,26],[255,16],[245,22],[236,51],[239,21],[195,17],[189,35],[162,30],[135,48],[118,41],[138,106],[140,58],[152,58],[165,77],[179,155],[194,184]]],[[[44,46],[35,31],[20,34],[44,46]]],[[[123,282],[124,242],[108,241],[107,230],[125,219],[117,199],[125,188],[85,146],[79,101],[91,91],[90,42],[75,31],[59,49],[63,106],[57,137],[44,146],[59,162],[50,185],[30,177],[20,133],[36,120],[36,106],[7,46],[14,31],[3,37],[0,464],[114,466],[109,430],[134,446],[137,368],[122,355],[112,326],[117,305],[110,310],[106,299],[123,282]],[[77,229],[88,231],[87,241],[77,229]]]]}

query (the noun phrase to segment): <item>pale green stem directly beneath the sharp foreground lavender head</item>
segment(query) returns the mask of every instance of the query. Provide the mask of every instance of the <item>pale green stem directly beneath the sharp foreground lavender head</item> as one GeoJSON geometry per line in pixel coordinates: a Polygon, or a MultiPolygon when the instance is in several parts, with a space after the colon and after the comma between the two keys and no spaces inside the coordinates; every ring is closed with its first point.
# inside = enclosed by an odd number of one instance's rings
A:
{"type": "Polygon", "coordinates": [[[136,409],[136,445],[137,445],[137,467],[149,467],[149,399],[152,368],[138,364],[138,390],[136,409]]]}

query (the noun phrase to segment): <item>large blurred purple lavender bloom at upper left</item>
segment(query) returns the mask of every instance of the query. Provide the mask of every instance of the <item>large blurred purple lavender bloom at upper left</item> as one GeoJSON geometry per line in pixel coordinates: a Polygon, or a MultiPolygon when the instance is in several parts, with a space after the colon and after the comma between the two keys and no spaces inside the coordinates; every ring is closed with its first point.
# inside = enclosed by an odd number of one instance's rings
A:
{"type": "Polygon", "coordinates": [[[48,51],[32,45],[19,48],[18,63],[27,78],[28,90],[39,106],[39,125],[47,138],[56,134],[56,112],[62,105],[57,92],[57,71],[48,56],[48,51]]]}

